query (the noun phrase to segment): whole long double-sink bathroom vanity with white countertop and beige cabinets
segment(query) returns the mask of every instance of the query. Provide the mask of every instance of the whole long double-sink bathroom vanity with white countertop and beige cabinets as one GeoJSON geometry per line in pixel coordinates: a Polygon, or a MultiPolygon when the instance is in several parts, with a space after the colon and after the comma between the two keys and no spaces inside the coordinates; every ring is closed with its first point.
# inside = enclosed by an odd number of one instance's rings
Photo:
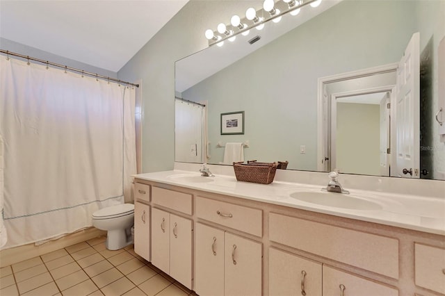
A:
{"type": "Polygon", "coordinates": [[[134,176],[136,253],[198,295],[445,295],[442,182],[407,195],[341,175],[343,195],[323,173],[262,185],[218,167],[134,176]]]}

